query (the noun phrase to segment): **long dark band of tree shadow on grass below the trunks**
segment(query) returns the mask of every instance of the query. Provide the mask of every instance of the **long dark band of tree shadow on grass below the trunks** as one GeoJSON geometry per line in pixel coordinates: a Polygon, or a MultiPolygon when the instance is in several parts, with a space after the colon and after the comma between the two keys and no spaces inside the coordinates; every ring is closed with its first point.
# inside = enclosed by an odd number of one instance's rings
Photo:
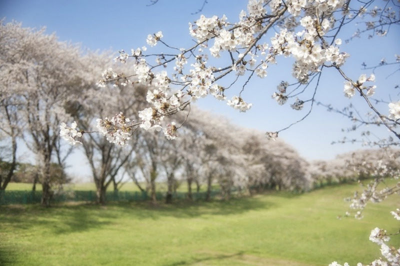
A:
{"type": "Polygon", "coordinates": [[[38,204],[8,205],[0,209],[0,230],[42,228],[56,234],[81,232],[117,222],[118,218],[162,219],[164,217],[212,218],[213,215],[239,214],[268,209],[276,205],[265,197],[241,197],[230,200],[187,201],[172,204],[159,202],[109,202],[106,206],[92,203],[59,204],[43,208],[38,204]]]}

